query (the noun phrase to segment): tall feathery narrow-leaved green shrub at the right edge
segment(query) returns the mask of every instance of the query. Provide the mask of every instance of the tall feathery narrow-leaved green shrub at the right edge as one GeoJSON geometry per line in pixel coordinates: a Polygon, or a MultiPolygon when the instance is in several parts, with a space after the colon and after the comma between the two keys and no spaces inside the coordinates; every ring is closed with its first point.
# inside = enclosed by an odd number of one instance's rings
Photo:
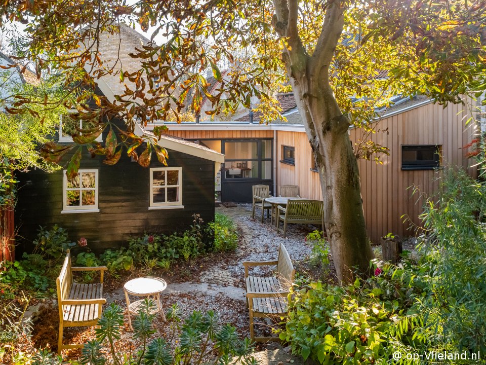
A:
{"type": "Polygon", "coordinates": [[[440,190],[422,215],[422,251],[440,311],[423,310],[435,316],[444,343],[486,354],[486,182],[450,169],[440,190]]]}

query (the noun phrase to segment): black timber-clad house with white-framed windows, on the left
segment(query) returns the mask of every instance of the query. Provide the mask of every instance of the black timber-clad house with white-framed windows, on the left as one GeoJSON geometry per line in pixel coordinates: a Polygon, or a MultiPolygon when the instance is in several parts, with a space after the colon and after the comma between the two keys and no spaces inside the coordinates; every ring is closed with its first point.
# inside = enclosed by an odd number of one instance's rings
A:
{"type": "MultiPolygon", "coordinates": [[[[118,39],[125,53],[120,53],[117,62],[125,70],[135,67],[128,53],[143,42],[133,34],[132,29],[123,27],[124,42],[118,39]]],[[[105,50],[118,51],[113,40],[107,37],[105,41],[111,47],[105,50]]],[[[104,76],[97,83],[95,92],[111,102],[113,95],[123,90],[119,77],[104,76]]],[[[66,120],[68,116],[62,117],[66,120]]],[[[114,118],[111,123],[121,127],[124,121],[114,118]]],[[[54,136],[60,143],[72,142],[65,125],[61,118],[59,133],[54,136]]],[[[107,133],[107,129],[103,131],[99,140],[105,140],[107,133]]],[[[135,133],[142,136],[149,132],[137,127],[135,133]]],[[[171,136],[162,136],[158,144],[168,152],[168,166],[158,162],[154,153],[148,168],[127,156],[110,166],[103,163],[104,157],[91,158],[84,148],[79,173],[71,180],[65,169],[55,173],[38,169],[18,173],[15,226],[23,241],[35,239],[39,226],[57,224],[67,230],[70,240],[85,237],[92,250],[102,251],[123,245],[130,236],[144,232],[171,234],[186,230],[193,224],[195,213],[204,222],[213,221],[215,174],[224,156],[171,136]]],[[[145,143],[138,148],[139,154],[144,148],[145,143]]],[[[60,164],[65,165],[75,151],[67,153],[60,164]]],[[[28,243],[22,247],[29,248],[28,243]]]]}

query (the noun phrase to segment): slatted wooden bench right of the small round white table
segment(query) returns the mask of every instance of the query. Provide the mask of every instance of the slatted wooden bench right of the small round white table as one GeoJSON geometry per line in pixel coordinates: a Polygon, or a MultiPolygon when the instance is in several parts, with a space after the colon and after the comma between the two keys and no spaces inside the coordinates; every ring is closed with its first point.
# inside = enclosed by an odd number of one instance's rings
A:
{"type": "Polygon", "coordinates": [[[295,270],[284,245],[278,249],[276,261],[245,261],[247,306],[250,311],[250,336],[253,341],[279,341],[278,337],[255,337],[254,317],[276,318],[288,312],[287,297],[294,282],[295,270]],[[252,266],[276,265],[275,276],[257,277],[249,275],[252,266]]]}

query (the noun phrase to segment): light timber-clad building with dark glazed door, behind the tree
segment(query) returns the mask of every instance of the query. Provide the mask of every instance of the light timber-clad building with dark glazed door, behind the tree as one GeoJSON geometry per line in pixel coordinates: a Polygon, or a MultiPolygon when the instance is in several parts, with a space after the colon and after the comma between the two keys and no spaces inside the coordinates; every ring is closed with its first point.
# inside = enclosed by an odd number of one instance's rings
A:
{"type": "MultiPolygon", "coordinates": [[[[249,117],[232,123],[166,123],[169,135],[226,155],[221,201],[250,202],[251,186],[256,184],[268,185],[273,194],[279,193],[281,185],[298,185],[302,197],[322,199],[319,174],[295,99],[289,93],[278,98],[287,123],[261,125],[258,115],[254,115],[253,124],[249,117]],[[231,175],[234,168],[239,172],[238,164],[252,170],[231,175]]],[[[382,163],[358,159],[363,209],[373,242],[387,233],[414,235],[411,229],[421,225],[424,197],[438,188],[440,167],[458,166],[476,175],[474,161],[463,149],[478,133],[475,123],[465,125],[475,110],[471,104],[468,100],[464,106],[449,104],[444,108],[423,96],[396,100],[373,122],[377,133],[367,138],[390,149],[389,156],[380,157],[382,163]],[[413,195],[414,187],[420,194],[413,195]]],[[[349,134],[355,147],[367,140],[359,128],[351,128],[349,134]]]]}

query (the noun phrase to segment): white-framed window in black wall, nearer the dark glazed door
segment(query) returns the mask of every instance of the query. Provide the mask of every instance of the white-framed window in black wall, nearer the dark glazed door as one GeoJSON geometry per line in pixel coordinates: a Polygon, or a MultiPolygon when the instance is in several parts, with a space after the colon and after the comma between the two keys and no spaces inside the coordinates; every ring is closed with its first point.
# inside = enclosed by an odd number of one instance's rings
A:
{"type": "Polygon", "coordinates": [[[182,167],[150,169],[149,209],[184,208],[182,205],[182,167]]]}

